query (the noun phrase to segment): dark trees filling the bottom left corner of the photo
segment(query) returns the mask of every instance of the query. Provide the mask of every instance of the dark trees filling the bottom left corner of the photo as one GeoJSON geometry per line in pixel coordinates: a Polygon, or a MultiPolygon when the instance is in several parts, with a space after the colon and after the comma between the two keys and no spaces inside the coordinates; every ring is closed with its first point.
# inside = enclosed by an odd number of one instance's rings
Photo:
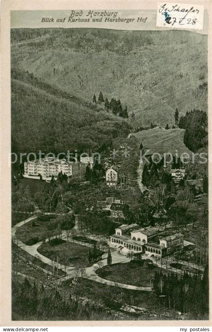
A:
{"type": "MultiPolygon", "coordinates": [[[[79,297],[80,284],[71,293],[59,287],[47,287],[28,279],[12,281],[13,320],[108,320],[115,316],[105,312],[102,306],[89,301],[83,304],[79,297]],[[33,299],[33,301],[32,301],[33,299]]],[[[81,295],[83,297],[83,294],[81,295]]]]}

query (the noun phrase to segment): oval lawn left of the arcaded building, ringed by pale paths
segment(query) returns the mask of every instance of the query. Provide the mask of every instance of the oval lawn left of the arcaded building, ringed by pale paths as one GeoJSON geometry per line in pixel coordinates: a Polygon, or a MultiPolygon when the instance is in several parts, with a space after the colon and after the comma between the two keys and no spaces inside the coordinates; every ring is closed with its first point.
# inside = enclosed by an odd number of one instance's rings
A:
{"type": "MultiPolygon", "coordinates": [[[[85,267],[89,266],[88,261],[89,247],[83,246],[73,242],[63,241],[61,244],[49,245],[49,243],[42,244],[38,248],[38,252],[50,259],[57,260],[66,266],[85,267]]],[[[100,250],[97,251],[99,256],[103,254],[100,250]]]]}

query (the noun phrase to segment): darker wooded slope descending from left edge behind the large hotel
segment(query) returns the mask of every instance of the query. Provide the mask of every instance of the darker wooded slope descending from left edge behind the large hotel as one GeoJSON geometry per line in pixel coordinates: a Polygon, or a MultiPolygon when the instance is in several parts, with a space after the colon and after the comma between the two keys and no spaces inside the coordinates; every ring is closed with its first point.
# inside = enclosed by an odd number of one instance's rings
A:
{"type": "Polygon", "coordinates": [[[126,120],[86,103],[26,72],[11,71],[13,152],[102,150],[126,136],[126,120]],[[14,151],[15,150],[15,151],[14,151]]]}

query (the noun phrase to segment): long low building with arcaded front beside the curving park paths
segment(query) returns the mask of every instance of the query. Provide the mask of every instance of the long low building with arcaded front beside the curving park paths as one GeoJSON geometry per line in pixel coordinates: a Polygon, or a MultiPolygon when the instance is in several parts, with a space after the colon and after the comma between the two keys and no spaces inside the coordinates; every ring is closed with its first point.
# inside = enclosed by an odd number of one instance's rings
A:
{"type": "Polygon", "coordinates": [[[116,234],[110,236],[110,242],[129,251],[162,257],[182,249],[183,235],[164,236],[164,230],[157,227],[139,228],[137,224],[123,224],[116,228],[116,234]]]}

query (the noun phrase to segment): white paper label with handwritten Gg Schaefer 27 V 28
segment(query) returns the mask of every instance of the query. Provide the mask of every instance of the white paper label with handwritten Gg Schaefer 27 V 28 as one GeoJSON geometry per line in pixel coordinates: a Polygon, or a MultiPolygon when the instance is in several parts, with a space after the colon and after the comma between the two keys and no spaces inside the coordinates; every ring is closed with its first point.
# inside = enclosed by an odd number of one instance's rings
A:
{"type": "Polygon", "coordinates": [[[203,19],[203,5],[158,2],[157,27],[202,30],[203,19]]]}

